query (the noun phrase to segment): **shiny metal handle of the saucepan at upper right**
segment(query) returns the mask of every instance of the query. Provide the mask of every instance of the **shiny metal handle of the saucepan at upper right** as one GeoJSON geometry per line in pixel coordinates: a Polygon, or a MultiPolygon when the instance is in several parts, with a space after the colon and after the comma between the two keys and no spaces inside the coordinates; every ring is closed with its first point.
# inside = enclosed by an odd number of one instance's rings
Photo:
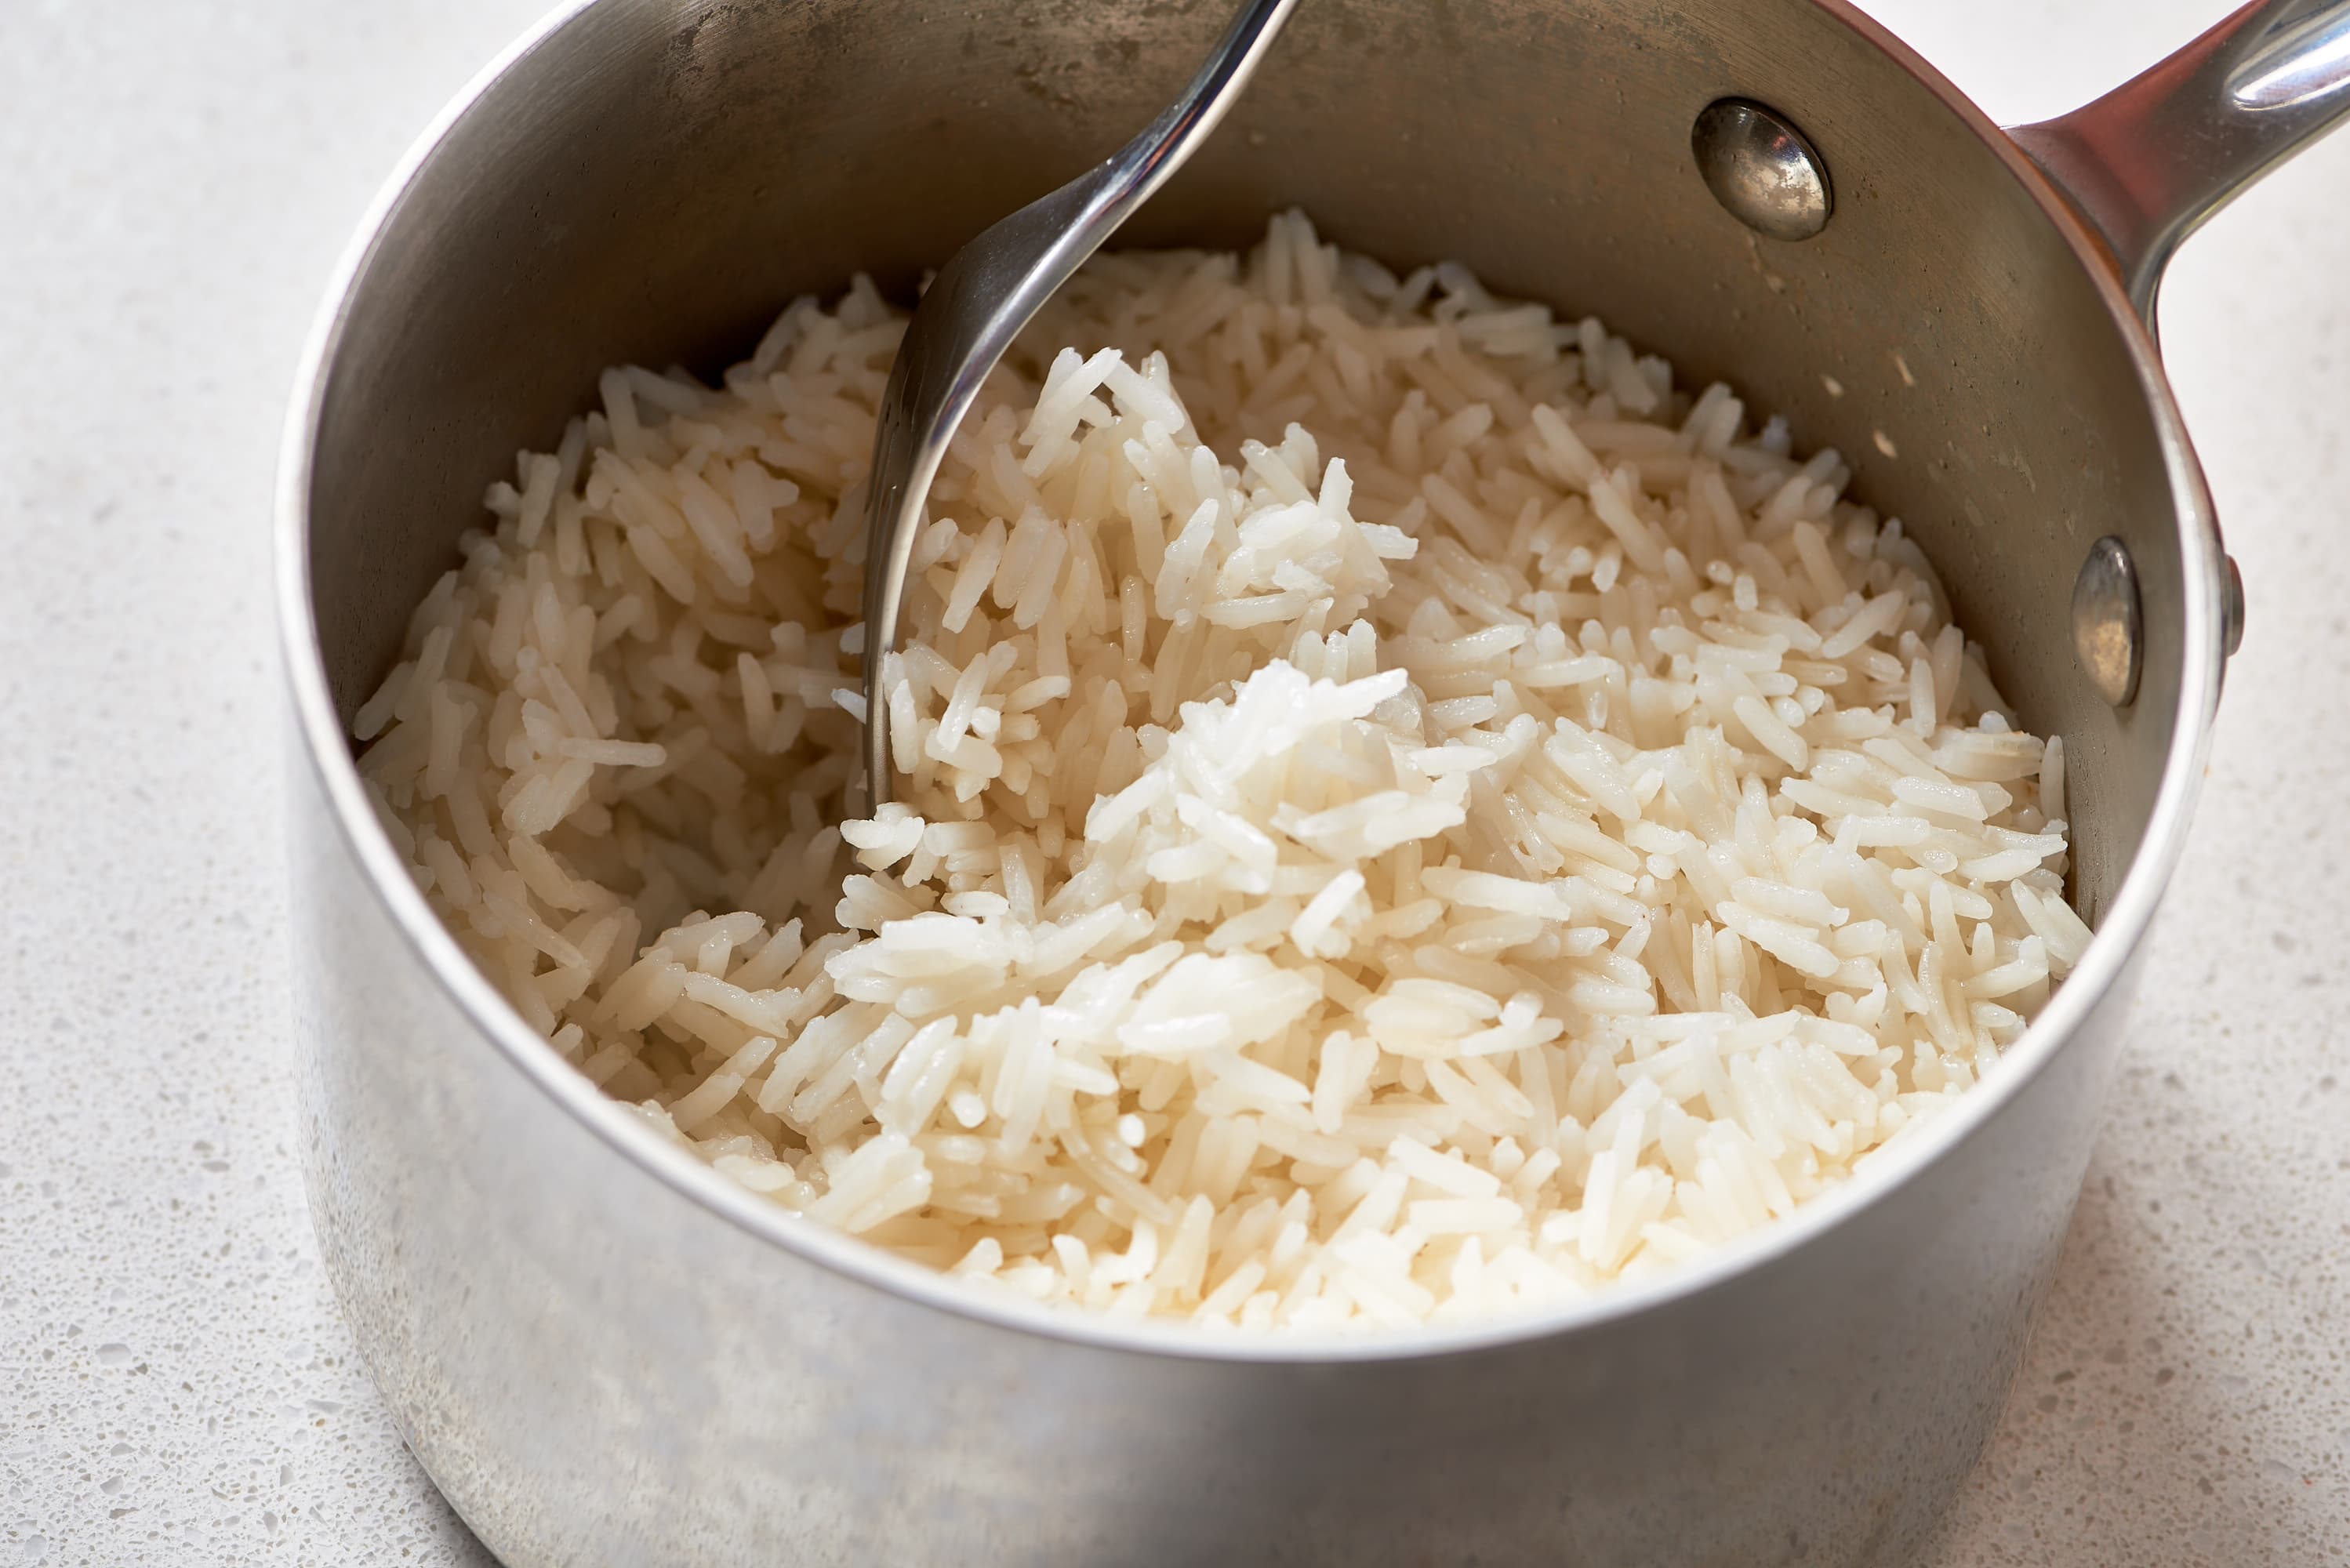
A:
{"type": "Polygon", "coordinates": [[[2155,327],[2171,252],[2350,113],[2350,0],[2254,0],[2094,103],[2009,129],[2155,327]]]}

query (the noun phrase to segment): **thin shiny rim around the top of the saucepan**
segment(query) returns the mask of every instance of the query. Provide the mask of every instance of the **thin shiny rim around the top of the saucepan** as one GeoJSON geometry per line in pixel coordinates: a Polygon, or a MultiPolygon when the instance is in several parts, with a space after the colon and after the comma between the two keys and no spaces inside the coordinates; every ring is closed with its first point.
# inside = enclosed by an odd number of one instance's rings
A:
{"type": "Polygon", "coordinates": [[[1939,1164],[1962,1140],[1974,1135],[2009,1100],[2023,1093],[2040,1070],[2066,1046],[2073,1032],[2106,999],[2120,980],[2134,947],[2146,936],[2178,860],[2188,818],[2202,783],[2204,755],[2211,736],[2211,717],[2218,705],[2221,679],[2221,548],[2211,517],[2211,498],[2188,444],[2186,425],[2171,397],[2169,381],[2155,343],[2131,310],[2113,263],[2096,237],[2073,214],[2066,197],[2049,179],[2016,148],[2009,136],[1993,125],[1981,108],[1958,92],[1939,71],[1922,61],[1908,45],[1856,12],[1847,0],[1812,0],[1819,9],[1842,21],[1847,28],[1873,42],[1885,56],[1908,71],[1983,143],[1990,158],[2007,165],[2009,174],[2030,190],[2042,214],[2056,226],[2082,270],[2094,280],[2113,324],[2120,329],[2141,395],[2160,433],[2162,461],[2174,494],[2174,517],[2178,522],[2178,552],[2183,567],[2183,623],[2181,623],[2181,686],[2174,715],[2169,755],[2155,792],[2155,806],[2146,823],[2138,851],[2122,877],[2122,886],[2106,910],[2094,940],[2080,966],[2056,987],[2023,1037],[2009,1046],[1998,1067],[1974,1088],[1960,1095],[1948,1112],[1920,1126],[1901,1145],[1887,1150],[1866,1168],[1838,1182],[1833,1190],[1802,1204],[1793,1215],[1774,1220],[1758,1232],[1730,1241],[1713,1253],[1661,1272],[1654,1279],[1617,1284],[1589,1298],[1549,1305],[1542,1309],[1513,1312],[1473,1324],[1422,1326],[1394,1331],[1224,1331],[1206,1333],[1191,1324],[1123,1321],[1095,1312],[1069,1307],[1046,1307],[987,1293],[968,1281],[956,1281],[898,1258],[870,1241],[827,1229],[813,1220],[801,1220],[766,1199],[754,1197],[726,1180],[707,1164],[684,1150],[660,1140],[651,1126],[609,1100],[602,1088],[564,1063],[543,1034],[498,994],[489,978],[465,957],[456,938],[425,903],[411,882],[407,865],[383,832],[360,783],[350,743],[327,686],[324,651],[317,616],[310,597],[310,487],[313,461],[320,437],[320,414],[324,390],[331,378],[350,303],[364,282],[369,263],[392,216],[397,214],[418,174],[425,172],[435,150],[451,129],[463,122],[496,87],[550,42],[576,19],[606,0],[564,0],[531,31],[508,45],[472,82],[468,82],[446,108],[416,139],[390,179],[367,209],[341,263],[334,270],[327,299],[303,348],[296,393],[287,418],[284,447],[277,473],[275,517],[275,588],[277,628],[284,651],[287,679],[294,698],[294,729],[298,745],[317,776],[327,797],[336,832],[343,846],[362,867],[369,893],[383,903],[383,912],[397,926],[407,945],[423,959],[456,1006],[479,1034],[496,1046],[505,1060],[522,1072],[559,1114],[578,1119],[597,1138],[609,1143],[623,1159],[642,1166],[651,1178],[672,1187],[691,1204],[700,1204],[724,1218],[750,1244],[778,1246],[811,1265],[834,1269],[865,1286],[888,1291],[909,1302],[952,1312],[994,1328],[1065,1340],[1102,1352],[1184,1356],[1210,1361],[1267,1361],[1267,1363],[1340,1363],[1340,1361],[1408,1361],[1455,1352],[1506,1347],[1525,1340],[1546,1340],[1579,1331],[1593,1331],[1617,1319],[1685,1302],[1708,1291],[1723,1288],[1744,1274],[1781,1260],[1826,1232],[1835,1229],[1859,1211],[1882,1201],[1896,1187],[1918,1180],[1939,1164]]]}

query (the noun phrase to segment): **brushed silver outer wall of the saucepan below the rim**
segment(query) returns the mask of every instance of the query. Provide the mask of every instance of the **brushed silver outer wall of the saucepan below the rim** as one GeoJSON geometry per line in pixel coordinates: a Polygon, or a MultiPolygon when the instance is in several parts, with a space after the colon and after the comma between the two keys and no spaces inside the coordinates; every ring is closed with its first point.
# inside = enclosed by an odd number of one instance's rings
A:
{"type": "Polygon", "coordinates": [[[682,1194],[482,1037],[294,783],[327,1267],[515,1568],[1901,1563],[2005,1401],[2129,990],[1943,1159],[1708,1291],[1441,1356],[1166,1356],[905,1300],[682,1194]]]}

